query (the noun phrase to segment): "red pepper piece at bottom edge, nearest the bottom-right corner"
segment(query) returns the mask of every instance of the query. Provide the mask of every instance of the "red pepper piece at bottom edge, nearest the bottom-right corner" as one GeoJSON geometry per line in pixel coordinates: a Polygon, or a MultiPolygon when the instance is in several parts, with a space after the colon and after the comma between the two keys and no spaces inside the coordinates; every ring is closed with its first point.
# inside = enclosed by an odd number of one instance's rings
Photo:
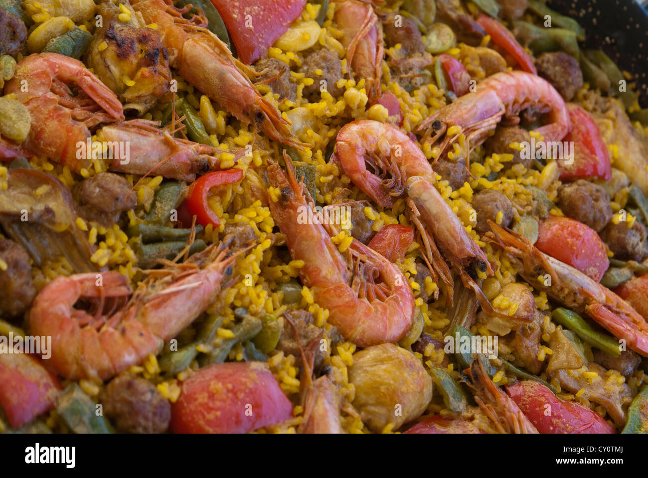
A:
{"type": "Polygon", "coordinates": [[[540,433],[614,433],[598,413],[576,402],[561,400],[537,381],[506,385],[506,393],[540,433]]]}

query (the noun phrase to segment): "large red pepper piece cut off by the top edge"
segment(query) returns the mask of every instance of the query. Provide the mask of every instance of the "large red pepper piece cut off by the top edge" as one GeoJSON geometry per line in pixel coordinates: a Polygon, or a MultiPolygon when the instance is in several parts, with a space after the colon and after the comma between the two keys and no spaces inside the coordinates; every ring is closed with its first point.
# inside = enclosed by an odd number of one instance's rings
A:
{"type": "Polygon", "coordinates": [[[249,65],[258,60],[301,15],[306,0],[211,0],[237,47],[238,58],[249,65]]]}

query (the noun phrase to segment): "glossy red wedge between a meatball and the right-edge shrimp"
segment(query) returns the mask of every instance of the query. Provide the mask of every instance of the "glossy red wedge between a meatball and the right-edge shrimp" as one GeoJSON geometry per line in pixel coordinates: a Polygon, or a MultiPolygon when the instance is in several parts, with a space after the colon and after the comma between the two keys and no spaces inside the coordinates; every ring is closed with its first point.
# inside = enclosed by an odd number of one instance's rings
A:
{"type": "Polygon", "coordinates": [[[535,247],[599,282],[610,260],[599,234],[582,222],[549,216],[540,222],[535,247]]]}

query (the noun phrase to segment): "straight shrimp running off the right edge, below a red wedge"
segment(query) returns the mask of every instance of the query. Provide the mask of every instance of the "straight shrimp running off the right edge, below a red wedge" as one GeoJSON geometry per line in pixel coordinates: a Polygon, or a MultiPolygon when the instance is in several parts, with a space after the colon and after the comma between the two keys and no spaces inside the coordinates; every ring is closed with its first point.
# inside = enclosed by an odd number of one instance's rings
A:
{"type": "Polygon", "coordinates": [[[537,290],[566,305],[575,312],[586,313],[628,348],[648,357],[648,324],[645,319],[607,287],[590,279],[581,271],[545,253],[519,234],[490,222],[496,238],[518,273],[537,290]],[[549,274],[551,282],[545,285],[549,274]]]}

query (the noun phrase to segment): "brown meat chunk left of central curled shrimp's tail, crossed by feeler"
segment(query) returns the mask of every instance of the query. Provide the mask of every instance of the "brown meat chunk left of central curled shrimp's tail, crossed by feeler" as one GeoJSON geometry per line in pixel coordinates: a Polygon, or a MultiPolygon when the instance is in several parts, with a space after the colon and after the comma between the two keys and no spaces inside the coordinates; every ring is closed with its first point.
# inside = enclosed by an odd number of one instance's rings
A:
{"type": "MultiPolygon", "coordinates": [[[[277,350],[282,350],[284,354],[292,355],[295,357],[295,366],[303,367],[303,359],[301,357],[301,348],[306,349],[308,343],[313,340],[320,340],[323,338],[323,329],[319,328],[313,323],[313,315],[305,310],[289,309],[284,312],[284,316],[288,317],[295,324],[297,334],[299,334],[299,342],[295,337],[295,331],[292,326],[286,321],[281,330],[279,342],[277,342],[277,350]],[[301,344],[301,348],[299,345],[301,344]]],[[[313,359],[313,370],[317,371],[321,368],[324,361],[325,352],[317,347],[313,359]]]]}

